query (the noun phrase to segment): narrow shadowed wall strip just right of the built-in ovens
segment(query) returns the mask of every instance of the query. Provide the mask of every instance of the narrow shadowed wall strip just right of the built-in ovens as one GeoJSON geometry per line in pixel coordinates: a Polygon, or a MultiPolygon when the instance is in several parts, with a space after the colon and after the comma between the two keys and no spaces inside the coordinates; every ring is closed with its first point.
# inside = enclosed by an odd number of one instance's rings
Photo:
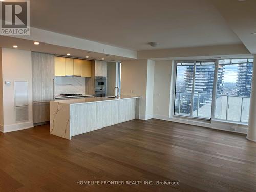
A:
{"type": "Polygon", "coordinates": [[[114,96],[116,87],[116,62],[108,62],[108,75],[106,82],[106,95],[114,96]]]}

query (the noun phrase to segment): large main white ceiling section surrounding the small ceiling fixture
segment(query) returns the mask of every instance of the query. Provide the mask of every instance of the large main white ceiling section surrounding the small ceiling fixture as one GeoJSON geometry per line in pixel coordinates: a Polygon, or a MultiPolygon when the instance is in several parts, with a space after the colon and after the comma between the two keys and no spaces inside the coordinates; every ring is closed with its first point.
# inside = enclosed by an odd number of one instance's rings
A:
{"type": "Polygon", "coordinates": [[[132,50],[241,43],[208,0],[32,0],[30,6],[33,27],[132,50]]]}

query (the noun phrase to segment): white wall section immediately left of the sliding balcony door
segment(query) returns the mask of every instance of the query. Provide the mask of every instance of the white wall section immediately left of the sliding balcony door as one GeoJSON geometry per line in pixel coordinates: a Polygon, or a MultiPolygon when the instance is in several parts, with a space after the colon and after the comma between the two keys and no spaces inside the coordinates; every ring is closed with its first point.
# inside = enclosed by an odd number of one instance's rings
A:
{"type": "Polygon", "coordinates": [[[172,60],[155,62],[153,114],[169,116],[172,60]]]}

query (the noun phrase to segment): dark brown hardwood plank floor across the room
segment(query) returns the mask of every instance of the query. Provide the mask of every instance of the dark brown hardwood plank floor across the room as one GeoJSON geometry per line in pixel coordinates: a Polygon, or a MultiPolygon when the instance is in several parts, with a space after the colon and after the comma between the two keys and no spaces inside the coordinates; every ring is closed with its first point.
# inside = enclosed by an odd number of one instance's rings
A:
{"type": "Polygon", "coordinates": [[[0,133],[0,191],[255,191],[245,135],[151,119],[66,140],[49,125],[0,133]],[[78,185],[77,181],[155,185],[78,185]],[[156,185],[176,181],[179,185],[156,185]]]}

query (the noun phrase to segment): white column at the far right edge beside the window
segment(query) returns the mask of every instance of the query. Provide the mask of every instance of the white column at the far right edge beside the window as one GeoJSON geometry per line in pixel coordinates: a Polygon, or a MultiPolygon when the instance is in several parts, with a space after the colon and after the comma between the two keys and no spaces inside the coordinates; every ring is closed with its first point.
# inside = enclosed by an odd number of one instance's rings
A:
{"type": "Polygon", "coordinates": [[[248,133],[246,138],[256,142],[256,55],[254,55],[253,63],[250,113],[248,121],[248,133]]]}

